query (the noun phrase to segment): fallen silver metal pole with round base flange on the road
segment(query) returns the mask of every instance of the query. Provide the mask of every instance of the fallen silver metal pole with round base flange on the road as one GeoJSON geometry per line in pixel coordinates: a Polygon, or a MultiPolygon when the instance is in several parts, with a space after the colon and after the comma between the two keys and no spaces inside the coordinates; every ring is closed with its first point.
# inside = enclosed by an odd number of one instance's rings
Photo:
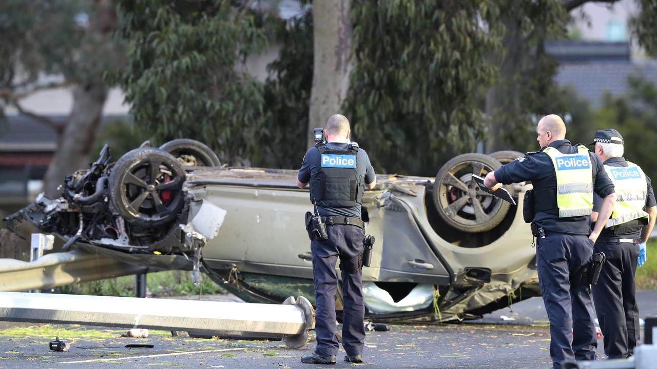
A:
{"type": "Polygon", "coordinates": [[[283,305],[0,292],[0,320],[91,324],[158,330],[206,330],[232,336],[283,337],[303,347],[315,328],[315,311],[302,296],[283,305]]]}

